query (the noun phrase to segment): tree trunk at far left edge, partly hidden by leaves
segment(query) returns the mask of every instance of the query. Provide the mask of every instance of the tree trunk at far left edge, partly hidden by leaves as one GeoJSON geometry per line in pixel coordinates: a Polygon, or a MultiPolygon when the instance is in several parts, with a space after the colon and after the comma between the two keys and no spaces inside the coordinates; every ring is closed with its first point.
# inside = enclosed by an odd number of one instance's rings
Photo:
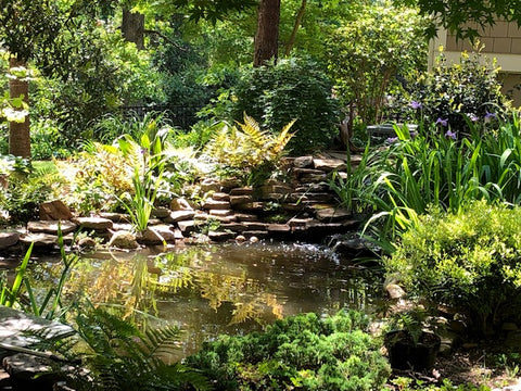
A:
{"type": "MultiPolygon", "coordinates": [[[[25,61],[11,58],[9,67],[27,66],[25,61]]],[[[29,102],[29,81],[18,80],[16,78],[9,80],[9,94],[11,98],[24,96],[24,101],[29,102]]],[[[24,110],[23,108],[16,110],[24,110]]],[[[30,157],[30,133],[29,116],[25,117],[23,123],[9,123],[9,153],[21,157],[30,157]]]]}

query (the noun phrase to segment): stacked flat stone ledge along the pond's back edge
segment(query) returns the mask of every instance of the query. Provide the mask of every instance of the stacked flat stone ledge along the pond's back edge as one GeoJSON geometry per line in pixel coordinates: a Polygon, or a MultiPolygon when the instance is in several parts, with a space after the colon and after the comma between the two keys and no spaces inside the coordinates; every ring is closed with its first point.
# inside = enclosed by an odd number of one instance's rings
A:
{"type": "MultiPolygon", "coordinates": [[[[199,207],[182,198],[175,199],[169,207],[154,210],[149,228],[137,236],[131,234],[131,224],[124,214],[74,217],[61,201],[47,202],[40,206],[40,220],[30,222],[26,231],[0,234],[0,251],[27,247],[30,242],[39,248],[55,248],[59,226],[68,244],[76,231],[87,232],[87,238],[75,243],[84,248],[96,245],[92,237],[110,247],[136,249],[140,244],[171,244],[201,232],[211,241],[266,238],[320,241],[325,236],[345,234],[358,225],[351,211],[336,207],[327,182],[333,171],[346,176],[345,159],[340,157],[288,159],[289,179],[268,180],[258,189],[242,187],[233,180],[205,179],[200,184],[200,193],[205,197],[199,207]],[[278,223],[269,223],[275,214],[279,215],[278,223]]],[[[352,162],[356,164],[356,160],[352,162]]],[[[198,237],[201,239],[201,235],[198,237]]]]}

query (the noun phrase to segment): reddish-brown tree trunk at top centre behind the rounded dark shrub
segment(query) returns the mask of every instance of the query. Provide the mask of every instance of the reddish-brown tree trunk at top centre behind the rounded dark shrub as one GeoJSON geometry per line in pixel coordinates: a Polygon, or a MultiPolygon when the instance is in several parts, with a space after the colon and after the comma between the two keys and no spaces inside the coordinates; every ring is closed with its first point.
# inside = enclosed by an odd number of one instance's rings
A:
{"type": "Polygon", "coordinates": [[[265,65],[279,50],[280,0],[260,0],[257,11],[257,33],[253,66],[265,65]]]}

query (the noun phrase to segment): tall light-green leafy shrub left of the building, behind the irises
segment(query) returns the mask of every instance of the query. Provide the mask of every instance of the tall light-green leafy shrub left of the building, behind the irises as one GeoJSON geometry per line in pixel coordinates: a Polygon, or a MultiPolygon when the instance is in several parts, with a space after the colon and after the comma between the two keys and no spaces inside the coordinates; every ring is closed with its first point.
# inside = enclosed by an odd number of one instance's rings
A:
{"type": "Polygon", "coordinates": [[[396,75],[425,67],[424,28],[414,9],[368,4],[326,40],[339,99],[364,123],[382,121],[386,96],[399,87],[396,75]]]}

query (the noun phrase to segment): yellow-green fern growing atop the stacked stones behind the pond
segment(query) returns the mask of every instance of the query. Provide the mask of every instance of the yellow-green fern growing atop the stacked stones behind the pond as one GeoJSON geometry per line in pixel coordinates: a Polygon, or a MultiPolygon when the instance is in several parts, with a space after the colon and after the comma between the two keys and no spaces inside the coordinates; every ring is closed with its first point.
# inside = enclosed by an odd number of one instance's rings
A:
{"type": "Polygon", "coordinates": [[[223,124],[206,144],[205,153],[220,169],[239,177],[245,185],[262,185],[275,171],[293,134],[287,124],[279,134],[262,130],[255,119],[244,114],[244,124],[223,124]]]}

